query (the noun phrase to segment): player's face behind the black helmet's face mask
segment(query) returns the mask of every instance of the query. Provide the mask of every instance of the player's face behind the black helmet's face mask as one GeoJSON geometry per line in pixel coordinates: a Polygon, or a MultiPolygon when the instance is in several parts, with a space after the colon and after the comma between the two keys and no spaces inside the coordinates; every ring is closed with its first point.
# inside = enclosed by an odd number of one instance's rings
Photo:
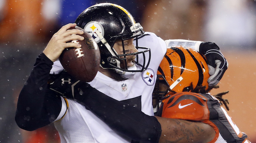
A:
{"type": "MultiPolygon", "coordinates": [[[[130,54],[130,53],[138,52],[138,49],[136,49],[133,44],[133,38],[124,40],[123,43],[122,43],[122,40],[119,39],[115,42],[113,47],[116,50],[117,54],[130,54]],[[123,51],[123,46],[124,46],[124,51],[123,51]]],[[[124,57],[120,57],[120,58],[124,58],[124,57]]],[[[128,67],[131,67],[134,65],[135,58],[136,58],[135,55],[126,56],[126,62],[128,67]]],[[[125,67],[125,63],[124,61],[121,61],[121,68],[124,68],[124,67],[125,67]]]]}

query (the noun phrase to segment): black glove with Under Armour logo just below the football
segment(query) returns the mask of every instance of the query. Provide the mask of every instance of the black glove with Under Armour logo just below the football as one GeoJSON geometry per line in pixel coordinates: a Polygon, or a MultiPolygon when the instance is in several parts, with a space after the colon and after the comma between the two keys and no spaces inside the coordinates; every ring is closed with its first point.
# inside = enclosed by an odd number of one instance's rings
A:
{"type": "Polygon", "coordinates": [[[86,89],[91,87],[88,83],[71,77],[65,70],[57,75],[50,75],[48,85],[49,89],[69,99],[74,99],[75,96],[82,95],[81,88],[86,89]]]}

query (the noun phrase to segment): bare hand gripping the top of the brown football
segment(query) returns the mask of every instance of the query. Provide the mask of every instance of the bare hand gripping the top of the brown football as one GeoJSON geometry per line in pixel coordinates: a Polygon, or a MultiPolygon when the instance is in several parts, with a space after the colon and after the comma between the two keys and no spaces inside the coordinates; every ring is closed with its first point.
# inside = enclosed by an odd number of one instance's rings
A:
{"type": "Polygon", "coordinates": [[[78,29],[68,30],[71,27],[75,27],[75,26],[76,24],[67,24],[61,27],[61,29],[58,32],[56,32],[53,35],[53,37],[50,39],[43,53],[51,61],[56,61],[60,57],[62,51],[65,48],[69,48],[69,47],[81,48],[81,44],[69,42],[73,40],[80,40],[80,41],[84,40],[84,37],[77,35],[77,34],[83,34],[84,33],[83,31],[78,29]]]}

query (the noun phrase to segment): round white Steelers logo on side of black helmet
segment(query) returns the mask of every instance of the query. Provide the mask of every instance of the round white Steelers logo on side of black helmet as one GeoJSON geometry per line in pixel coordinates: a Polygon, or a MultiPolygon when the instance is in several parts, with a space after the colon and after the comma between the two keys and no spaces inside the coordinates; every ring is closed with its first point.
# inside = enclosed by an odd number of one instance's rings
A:
{"type": "Polygon", "coordinates": [[[100,42],[100,38],[98,37],[98,35],[96,34],[96,31],[98,30],[100,32],[100,34],[102,34],[102,36],[104,37],[104,29],[103,26],[97,22],[97,21],[91,21],[88,22],[88,24],[86,24],[86,26],[84,26],[84,30],[86,32],[88,32],[96,41],[96,43],[100,42]]]}

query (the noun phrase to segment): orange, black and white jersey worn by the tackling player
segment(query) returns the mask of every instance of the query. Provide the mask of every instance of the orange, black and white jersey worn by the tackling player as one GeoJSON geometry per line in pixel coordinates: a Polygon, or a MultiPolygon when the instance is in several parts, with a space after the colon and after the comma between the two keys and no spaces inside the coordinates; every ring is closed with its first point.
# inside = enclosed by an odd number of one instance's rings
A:
{"type": "Polygon", "coordinates": [[[212,95],[179,92],[168,97],[160,108],[161,117],[201,121],[212,126],[216,134],[209,143],[250,143],[212,95]]]}

